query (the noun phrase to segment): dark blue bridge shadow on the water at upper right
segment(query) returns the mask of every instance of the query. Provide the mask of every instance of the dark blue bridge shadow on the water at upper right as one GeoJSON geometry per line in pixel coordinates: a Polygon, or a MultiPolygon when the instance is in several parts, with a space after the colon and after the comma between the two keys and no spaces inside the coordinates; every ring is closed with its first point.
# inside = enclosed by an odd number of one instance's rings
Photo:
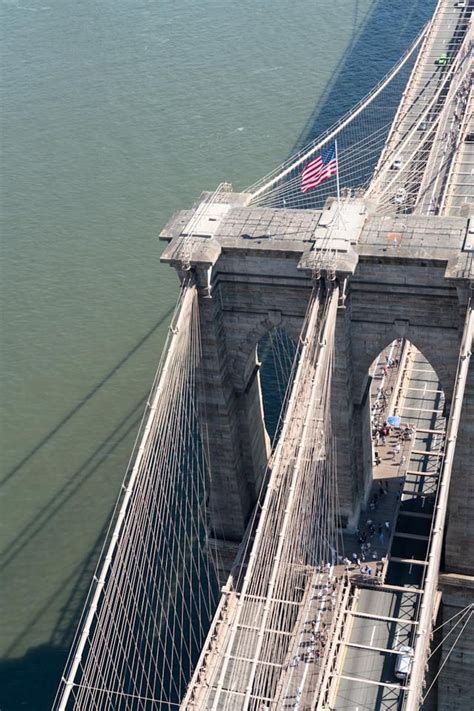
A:
{"type": "MultiPolygon", "coordinates": [[[[374,1],[363,26],[354,32],[290,155],[317,138],[369,93],[404,54],[432,16],[435,6],[436,0],[413,0],[410,3],[407,0],[374,1]]],[[[354,25],[361,12],[359,0],[354,0],[354,25]]],[[[319,61],[323,60],[324,57],[319,57],[319,61]]],[[[393,83],[390,100],[394,106],[400,100],[406,80],[406,73],[402,72],[400,81],[393,83]]]]}

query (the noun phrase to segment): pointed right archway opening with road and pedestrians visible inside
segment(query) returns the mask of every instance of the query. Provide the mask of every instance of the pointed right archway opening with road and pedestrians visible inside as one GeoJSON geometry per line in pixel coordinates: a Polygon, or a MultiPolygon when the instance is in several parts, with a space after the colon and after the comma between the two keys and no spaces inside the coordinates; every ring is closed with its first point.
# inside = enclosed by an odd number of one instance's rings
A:
{"type": "Polygon", "coordinates": [[[422,587],[443,462],[445,394],[428,359],[402,338],[373,361],[367,390],[356,553],[386,583],[422,587]]]}

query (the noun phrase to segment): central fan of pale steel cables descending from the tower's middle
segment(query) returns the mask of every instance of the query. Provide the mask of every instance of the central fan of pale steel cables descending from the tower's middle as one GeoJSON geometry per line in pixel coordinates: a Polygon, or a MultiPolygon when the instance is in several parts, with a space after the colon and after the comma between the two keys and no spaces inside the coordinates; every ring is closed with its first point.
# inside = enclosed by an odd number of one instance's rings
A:
{"type": "Polygon", "coordinates": [[[214,635],[218,660],[199,670],[199,689],[185,708],[259,709],[274,699],[279,683],[284,694],[305,596],[315,575],[330,577],[341,553],[330,412],[338,292],[322,282],[313,292],[255,540],[230,591],[233,612],[225,635],[214,635]]]}

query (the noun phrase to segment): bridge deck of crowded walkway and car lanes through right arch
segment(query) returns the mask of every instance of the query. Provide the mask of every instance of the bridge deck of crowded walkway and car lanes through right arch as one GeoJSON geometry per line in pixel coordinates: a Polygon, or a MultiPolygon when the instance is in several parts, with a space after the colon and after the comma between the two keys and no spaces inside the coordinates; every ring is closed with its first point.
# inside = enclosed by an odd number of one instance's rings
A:
{"type": "MultiPolygon", "coordinates": [[[[444,436],[443,394],[424,357],[414,348],[406,355],[401,343],[386,350],[372,374],[374,417],[386,419],[395,404],[402,422],[415,428],[413,439],[399,454],[395,436],[377,445],[381,463],[375,468],[371,498],[382,483],[387,494],[379,495],[376,510],[368,507],[359,523],[363,531],[372,519],[382,526],[389,520],[391,533],[379,533],[372,540],[376,560],[369,555],[364,564],[371,568],[370,577],[356,566],[348,576],[347,566],[341,564],[308,569],[285,661],[272,660],[279,670],[275,696],[260,699],[276,708],[325,708],[320,704],[329,685],[331,697],[336,696],[332,709],[354,709],[354,704],[361,710],[402,708],[406,687],[394,676],[395,657],[402,645],[413,645],[417,625],[444,436]],[[385,355],[399,360],[404,372],[387,370],[385,355]],[[381,394],[392,388],[389,403],[381,394]],[[383,569],[383,583],[374,587],[376,568],[383,569]]],[[[344,550],[349,556],[359,551],[357,537],[346,536],[344,550]]],[[[206,707],[213,700],[211,690],[206,707]]]]}

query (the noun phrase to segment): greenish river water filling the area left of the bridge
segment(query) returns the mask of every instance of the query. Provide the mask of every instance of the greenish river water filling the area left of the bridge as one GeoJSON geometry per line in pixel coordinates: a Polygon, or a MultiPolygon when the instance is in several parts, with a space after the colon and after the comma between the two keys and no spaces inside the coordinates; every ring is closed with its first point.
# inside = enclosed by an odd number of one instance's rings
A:
{"type": "Polygon", "coordinates": [[[161,227],[355,103],[435,0],[2,0],[2,711],[50,707],[178,290],[161,227]]]}

